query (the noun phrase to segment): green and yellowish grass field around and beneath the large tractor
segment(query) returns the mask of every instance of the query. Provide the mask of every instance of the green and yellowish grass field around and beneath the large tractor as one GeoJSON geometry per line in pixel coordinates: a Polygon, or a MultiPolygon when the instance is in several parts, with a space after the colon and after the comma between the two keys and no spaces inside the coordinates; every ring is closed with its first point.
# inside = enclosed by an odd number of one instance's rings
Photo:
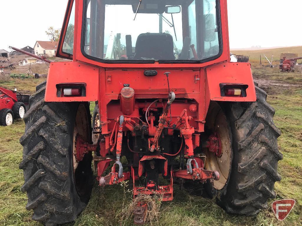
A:
{"type": "MultiPolygon", "coordinates": [[[[270,50],[272,51],[272,50],[270,50]]],[[[302,51],[301,51],[302,52],[302,51]]],[[[237,52],[236,52],[237,53],[237,52]]],[[[242,53],[249,55],[249,52],[242,53]]],[[[252,54],[250,54],[252,55],[252,54]]],[[[256,54],[255,54],[256,55],[256,54]]],[[[296,200],[296,206],[284,221],[278,221],[271,208],[258,215],[244,217],[228,215],[216,204],[214,199],[190,195],[188,191],[180,191],[175,186],[174,200],[163,202],[158,221],[154,226],[298,226],[302,225],[302,79],[299,73],[280,73],[278,69],[260,67],[253,63],[254,78],[266,81],[263,88],[268,92],[268,103],[276,110],[275,124],[282,132],[279,137],[279,149],[284,159],[279,162],[278,171],[281,182],[276,183],[276,199],[290,198],[296,200]],[[274,85],[270,80],[279,81],[274,85]]],[[[8,80],[0,86],[34,91],[40,80],[8,80]]],[[[94,105],[91,105],[91,109],[94,105]]],[[[0,225],[29,226],[40,225],[31,221],[32,212],[25,209],[27,196],[21,193],[23,172],[18,169],[22,159],[22,147],[19,138],[24,132],[23,121],[16,121],[11,127],[0,127],[0,225]]],[[[269,200],[269,206],[273,199],[269,200]]],[[[124,206],[131,202],[131,186],[111,186],[102,189],[95,183],[92,199],[88,206],[73,224],[84,225],[132,225],[132,221],[120,222],[116,217],[124,206]]]]}

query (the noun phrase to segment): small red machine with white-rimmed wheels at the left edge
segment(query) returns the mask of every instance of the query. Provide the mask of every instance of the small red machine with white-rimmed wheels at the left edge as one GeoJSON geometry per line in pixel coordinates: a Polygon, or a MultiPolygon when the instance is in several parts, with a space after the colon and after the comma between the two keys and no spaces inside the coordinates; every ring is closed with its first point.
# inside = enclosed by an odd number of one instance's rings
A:
{"type": "Polygon", "coordinates": [[[10,126],[14,119],[23,118],[26,107],[21,101],[25,96],[17,95],[17,91],[0,87],[0,126],[10,126]]]}

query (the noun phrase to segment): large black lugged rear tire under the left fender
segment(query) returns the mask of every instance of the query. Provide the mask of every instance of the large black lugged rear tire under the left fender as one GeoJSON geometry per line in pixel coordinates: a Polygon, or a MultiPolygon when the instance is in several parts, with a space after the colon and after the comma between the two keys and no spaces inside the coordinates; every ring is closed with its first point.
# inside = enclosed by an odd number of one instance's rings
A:
{"type": "Polygon", "coordinates": [[[33,209],[33,220],[58,225],[74,221],[90,199],[92,155],[86,154],[74,172],[73,142],[75,128],[91,141],[91,115],[88,103],[44,102],[44,96],[45,85],[31,97],[24,115],[21,191],[27,192],[26,209],[33,209]],[[81,120],[76,120],[79,112],[81,120]]]}

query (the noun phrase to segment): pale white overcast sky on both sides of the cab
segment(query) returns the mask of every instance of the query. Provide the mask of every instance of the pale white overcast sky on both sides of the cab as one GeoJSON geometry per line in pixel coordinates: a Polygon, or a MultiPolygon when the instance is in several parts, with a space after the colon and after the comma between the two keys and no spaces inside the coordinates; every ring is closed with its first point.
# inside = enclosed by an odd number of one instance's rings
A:
{"type": "MultiPolygon", "coordinates": [[[[45,31],[62,27],[66,4],[67,0],[1,0],[0,49],[34,47],[36,40],[49,40],[45,31]]],[[[231,48],[302,45],[301,11],[301,0],[228,0],[231,48]]]]}

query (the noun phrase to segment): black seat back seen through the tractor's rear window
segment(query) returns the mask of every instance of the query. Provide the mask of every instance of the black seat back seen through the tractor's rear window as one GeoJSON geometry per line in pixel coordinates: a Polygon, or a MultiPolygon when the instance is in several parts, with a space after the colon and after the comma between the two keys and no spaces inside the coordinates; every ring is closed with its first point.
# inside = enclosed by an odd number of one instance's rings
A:
{"type": "Polygon", "coordinates": [[[175,60],[173,38],[167,33],[143,33],[137,37],[134,59],[175,60]]]}

